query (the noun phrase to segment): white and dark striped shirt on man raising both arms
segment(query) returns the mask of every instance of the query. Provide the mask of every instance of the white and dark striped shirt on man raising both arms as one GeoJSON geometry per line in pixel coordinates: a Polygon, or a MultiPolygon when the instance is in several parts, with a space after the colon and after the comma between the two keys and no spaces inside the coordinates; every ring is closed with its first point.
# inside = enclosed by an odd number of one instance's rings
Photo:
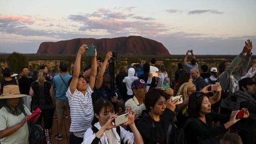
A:
{"type": "Polygon", "coordinates": [[[91,126],[93,120],[93,102],[91,98],[93,90],[87,85],[85,95],[77,89],[71,94],[70,87],[66,96],[69,99],[71,125],[69,131],[73,132],[76,137],[83,138],[87,129],[91,126]]]}

